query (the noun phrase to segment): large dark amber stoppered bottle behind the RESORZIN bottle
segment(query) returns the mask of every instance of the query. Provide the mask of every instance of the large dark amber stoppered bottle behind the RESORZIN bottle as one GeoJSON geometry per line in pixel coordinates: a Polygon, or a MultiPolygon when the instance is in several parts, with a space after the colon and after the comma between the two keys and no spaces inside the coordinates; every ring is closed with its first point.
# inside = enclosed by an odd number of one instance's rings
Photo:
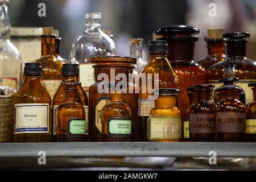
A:
{"type": "Polygon", "coordinates": [[[208,82],[213,83],[215,88],[221,86],[218,80],[224,75],[224,65],[236,65],[236,77],[239,81],[236,82],[246,95],[246,104],[253,100],[253,93],[248,88],[250,82],[256,82],[256,62],[246,57],[246,43],[250,34],[248,32],[233,32],[224,34],[226,42],[227,56],[224,61],[220,61],[209,68],[208,82]]]}

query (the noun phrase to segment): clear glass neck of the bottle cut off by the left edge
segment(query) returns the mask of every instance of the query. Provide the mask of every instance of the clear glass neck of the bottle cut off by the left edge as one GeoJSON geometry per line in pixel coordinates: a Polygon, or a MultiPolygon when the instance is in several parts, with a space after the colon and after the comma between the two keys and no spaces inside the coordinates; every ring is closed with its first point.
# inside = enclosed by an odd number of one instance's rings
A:
{"type": "Polygon", "coordinates": [[[8,6],[6,3],[0,3],[0,39],[10,39],[11,23],[8,15],[8,6]]]}

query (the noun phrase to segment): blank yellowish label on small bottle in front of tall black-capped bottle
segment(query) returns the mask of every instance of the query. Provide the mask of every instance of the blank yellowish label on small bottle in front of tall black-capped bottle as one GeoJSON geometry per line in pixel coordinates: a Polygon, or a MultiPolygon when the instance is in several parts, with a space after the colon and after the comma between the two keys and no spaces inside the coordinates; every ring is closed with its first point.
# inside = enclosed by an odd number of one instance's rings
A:
{"type": "Polygon", "coordinates": [[[148,121],[150,139],[180,140],[181,117],[151,117],[148,121]]]}

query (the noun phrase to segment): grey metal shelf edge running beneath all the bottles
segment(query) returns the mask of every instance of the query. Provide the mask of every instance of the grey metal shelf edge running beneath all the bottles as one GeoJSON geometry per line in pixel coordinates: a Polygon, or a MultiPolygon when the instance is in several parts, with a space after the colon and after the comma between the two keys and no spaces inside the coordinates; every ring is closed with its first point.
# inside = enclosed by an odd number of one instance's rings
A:
{"type": "Polygon", "coordinates": [[[256,157],[256,143],[229,142],[70,142],[70,143],[0,143],[0,158],[90,156],[190,156],[256,157]]]}

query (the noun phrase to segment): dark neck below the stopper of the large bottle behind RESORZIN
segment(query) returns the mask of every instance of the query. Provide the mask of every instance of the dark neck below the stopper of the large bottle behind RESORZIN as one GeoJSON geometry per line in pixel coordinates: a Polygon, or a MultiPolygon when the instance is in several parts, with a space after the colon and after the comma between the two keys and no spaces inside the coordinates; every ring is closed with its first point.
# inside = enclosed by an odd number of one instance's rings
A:
{"type": "Polygon", "coordinates": [[[226,43],[226,50],[228,58],[237,58],[246,56],[246,40],[235,42],[230,41],[226,43]]]}

